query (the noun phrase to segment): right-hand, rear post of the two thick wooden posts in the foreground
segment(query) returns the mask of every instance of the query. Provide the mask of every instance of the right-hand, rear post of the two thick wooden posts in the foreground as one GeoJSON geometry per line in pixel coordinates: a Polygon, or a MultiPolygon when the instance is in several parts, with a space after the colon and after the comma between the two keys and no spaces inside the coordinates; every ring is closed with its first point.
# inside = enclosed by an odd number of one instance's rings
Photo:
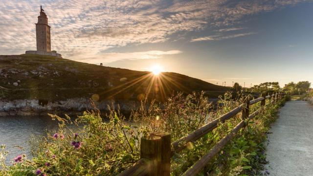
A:
{"type": "Polygon", "coordinates": [[[171,173],[171,134],[169,132],[154,132],[152,135],[161,137],[161,162],[158,176],[170,176],[171,173]]]}

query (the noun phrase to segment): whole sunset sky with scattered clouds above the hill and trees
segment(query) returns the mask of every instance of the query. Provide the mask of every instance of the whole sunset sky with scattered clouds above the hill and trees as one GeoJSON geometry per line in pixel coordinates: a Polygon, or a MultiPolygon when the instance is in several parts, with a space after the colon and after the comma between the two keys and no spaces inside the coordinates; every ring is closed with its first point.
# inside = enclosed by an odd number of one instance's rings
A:
{"type": "Polygon", "coordinates": [[[0,0],[0,55],[51,49],[104,66],[177,72],[250,87],[313,82],[312,0],[0,0]]]}

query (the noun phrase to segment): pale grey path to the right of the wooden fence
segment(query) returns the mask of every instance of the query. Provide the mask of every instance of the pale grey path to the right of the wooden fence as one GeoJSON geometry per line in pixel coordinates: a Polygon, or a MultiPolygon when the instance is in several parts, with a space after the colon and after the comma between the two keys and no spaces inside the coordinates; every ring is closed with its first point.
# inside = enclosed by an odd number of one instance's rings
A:
{"type": "Polygon", "coordinates": [[[289,101],[268,135],[270,176],[313,176],[313,106],[289,101]]]}

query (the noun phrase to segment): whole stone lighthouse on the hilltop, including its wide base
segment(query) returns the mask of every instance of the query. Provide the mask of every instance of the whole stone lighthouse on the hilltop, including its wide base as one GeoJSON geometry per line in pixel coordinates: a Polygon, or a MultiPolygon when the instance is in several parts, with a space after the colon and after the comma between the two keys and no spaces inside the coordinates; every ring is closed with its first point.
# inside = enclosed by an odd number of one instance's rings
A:
{"type": "Polygon", "coordinates": [[[42,6],[40,6],[40,16],[38,16],[38,22],[35,24],[37,50],[29,50],[26,51],[25,54],[39,54],[62,58],[61,54],[57,53],[56,51],[51,51],[51,27],[48,25],[48,18],[42,6]]]}

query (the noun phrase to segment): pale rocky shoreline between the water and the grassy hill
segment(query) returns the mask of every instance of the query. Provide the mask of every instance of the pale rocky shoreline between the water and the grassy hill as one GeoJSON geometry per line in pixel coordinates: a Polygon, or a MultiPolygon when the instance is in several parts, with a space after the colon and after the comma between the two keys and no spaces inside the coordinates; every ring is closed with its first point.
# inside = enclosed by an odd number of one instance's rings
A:
{"type": "MultiPolygon", "coordinates": [[[[108,105],[120,107],[123,113],[130,113],[132,109],[140,106],[140,102],[135,101],[101,101],[94,102],[100,111],[108,111],[108,105]]],[[[72,98],[61,101],[48,102],[36,99],[24,99],[6,101],[0,100],[0,117],[1,116],[33,116],[51,114],[82,114],[85,110],[93,109],[89,98],[72,98]]]]}

